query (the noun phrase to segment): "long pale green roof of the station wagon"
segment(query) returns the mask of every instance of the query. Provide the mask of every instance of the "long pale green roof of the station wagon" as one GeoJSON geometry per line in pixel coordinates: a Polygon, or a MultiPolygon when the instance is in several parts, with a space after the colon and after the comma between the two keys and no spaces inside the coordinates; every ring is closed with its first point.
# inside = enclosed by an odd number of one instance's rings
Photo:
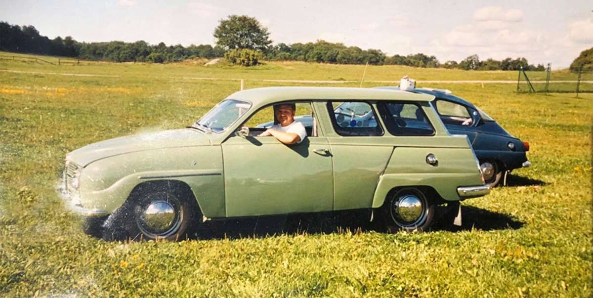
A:
{"type": "Polygon", "coordinates": [[[413,100],[430,102],[435,99],[430,94],[417,94],[404,91],[380,90],[372,88],[345,87],[264,87],[237,91],[227,99],[247,100],[253,104],[267,104],[286,100],[413,100]]]}

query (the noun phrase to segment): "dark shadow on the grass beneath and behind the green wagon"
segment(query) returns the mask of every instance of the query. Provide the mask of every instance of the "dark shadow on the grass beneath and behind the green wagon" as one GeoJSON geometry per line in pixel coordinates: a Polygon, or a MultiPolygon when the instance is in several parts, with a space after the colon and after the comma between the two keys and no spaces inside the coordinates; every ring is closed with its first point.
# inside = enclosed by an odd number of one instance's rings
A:
{"type": "MultiPolygon", "coordinates": [[[[262,238],[282,234],[387,233],[377,213],[374,214],[374,221],[369,221],[370,218],[371,213],[368,210],[349,210],[334,213],[307,213],[206,221],[192,231],[190,239],[262,238]]],[[[452,224],[451,216],[443,216],[435,220],[431,231],[491,231],[521,229],[523,225],[524,223],[521,221],[515,220],[506,214],[462,205],[462,224],[460,227],[452,224]]]]}

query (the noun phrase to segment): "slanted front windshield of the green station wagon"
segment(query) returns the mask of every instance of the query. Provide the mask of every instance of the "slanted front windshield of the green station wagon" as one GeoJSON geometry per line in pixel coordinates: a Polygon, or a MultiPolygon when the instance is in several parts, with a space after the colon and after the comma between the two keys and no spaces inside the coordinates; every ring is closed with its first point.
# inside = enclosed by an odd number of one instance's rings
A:
{"type": "Polygon", "coordinates": [[[251,107],[250,103],[241,102],[240,100],[227,99],[206,113],[193,127],[199,129],[208,129],[213,132],[221,132],[235,123],[247,110],[251,107]]]}

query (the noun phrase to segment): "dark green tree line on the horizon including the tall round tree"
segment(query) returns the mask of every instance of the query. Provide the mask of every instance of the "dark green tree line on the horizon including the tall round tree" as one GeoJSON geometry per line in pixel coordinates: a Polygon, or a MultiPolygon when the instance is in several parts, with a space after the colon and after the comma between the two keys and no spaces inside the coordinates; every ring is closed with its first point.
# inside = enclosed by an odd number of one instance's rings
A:
{"type": "MultiPolygon", "coordinates": [[[[249,49],[257,58],[268,61],[305,61],[329,64],[371,64],[371,65],[406,65],[422,68],[455,68],[466,70],[518,70],[544,71],[544,65],[528,63],[527,59],[506,58],[502,61],[486,59],[480,61],[477,55],[468,56],[460,62],[447,61],[441,63],[435,56],[416,53],[407,56],[388,56],[379,49],[363,50],[356,46],[345,46],[343,43],[331,43],[324,40],[308,43],[278,43],[272,45],[267,28],[261,26],[255,18],[245,15],[230,15],[221,20],[214,33],[216,45],[182,45],[167,46],[165,43],[149,45],[143,40],[133,43],[126,42],[77,42],[70,36],[49,39],[39,34],[33,26],[16,26],[0,21],[0,50],[19,53],[37,53],[43,55],[78,57],[89,60],[113,62],[179,62],[192,58],[236,57],[228,55],[235,50],[249,49]],[[251,39],[246,40],[246,36],[251,39]]],[[[231,53],[232,54],[232,53],[231,53]]],[[[245,54],[245,53],[243,53],[245,54]]],[[[244,55],[245,56],[245,55],[244,55]]],[[[233,61],[245,61],[245,59],[233,61]]]]}

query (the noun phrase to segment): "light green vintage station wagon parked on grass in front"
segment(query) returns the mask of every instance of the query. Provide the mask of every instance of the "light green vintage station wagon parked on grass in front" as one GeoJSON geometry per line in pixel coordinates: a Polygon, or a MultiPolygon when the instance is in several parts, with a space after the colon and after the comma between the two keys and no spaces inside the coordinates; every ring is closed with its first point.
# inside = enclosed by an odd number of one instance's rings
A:
{"type": "Polygon", "coordinates": [[[467,137],[448,133],[433,100],[366,88],[238,91],[188,128],[72,151],[66,199],[105,239],[176,240],[206,220],[353,209],[389,231],[426,230],[436,205],[490,191],[467,137]],[[298,144],[260,136],[286,103],[295,121],[313,117],[298,144]]]}

